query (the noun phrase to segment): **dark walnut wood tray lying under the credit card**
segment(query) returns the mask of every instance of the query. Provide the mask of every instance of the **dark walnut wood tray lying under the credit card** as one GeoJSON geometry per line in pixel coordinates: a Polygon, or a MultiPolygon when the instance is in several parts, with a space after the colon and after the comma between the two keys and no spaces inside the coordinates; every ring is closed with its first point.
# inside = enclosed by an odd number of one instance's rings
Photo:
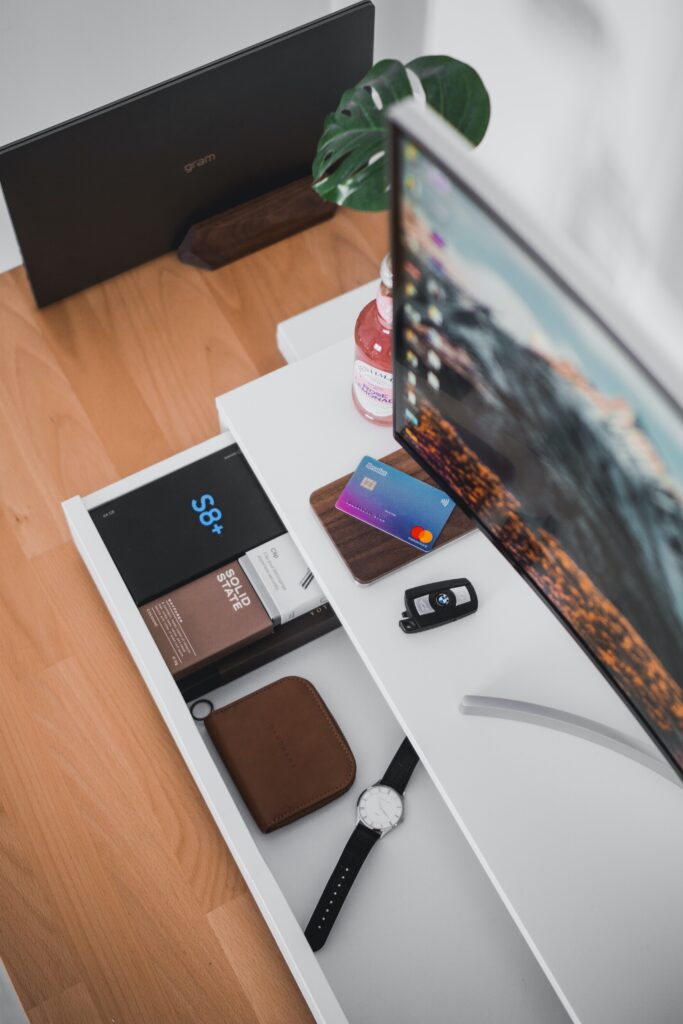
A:
{"type": "MultiPolygon", "coordinates": [[[[417,476],[424,483],[434,485],[433,480],[418,466],[417,462],[399,449],[391,455],[380,459],[387,466],[399,469],[401,473],[417,476]]],[[[340,512],[335,503],[351,479],[353,473],[326,483],[324,487],[314,490],[310,496],[313,512],[323,523],[335,548],[346,562],[351,575],[356,583],[374,583],[387,572],[393,572],[417,558],[424,558],[428,551],[418,551],[410,544],[397,541],[395,537],[383,534],[382,530],[369,526],[358,519],[340,512]]],[[[445,526],[441,530],[434,548],[440,548],[450,541],[456,541],[465,534],[471,534],[476,527],[460,508],[455,508],[445,526]]],[[[434,550],[432,548],[432,551],[434,550]]],[[[453,574],[453,573],[452,573],[453,574]]]]}

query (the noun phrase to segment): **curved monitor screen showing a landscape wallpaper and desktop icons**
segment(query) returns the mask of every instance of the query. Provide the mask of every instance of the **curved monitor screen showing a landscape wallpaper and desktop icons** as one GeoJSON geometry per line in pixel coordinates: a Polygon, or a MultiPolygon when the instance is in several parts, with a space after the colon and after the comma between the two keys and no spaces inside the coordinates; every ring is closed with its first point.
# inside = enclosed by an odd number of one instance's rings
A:
{"type": "Polygon", "coordinates": [[[683,775],[681,410],[454,167],[393,142],[396,437],[683,775]]]}

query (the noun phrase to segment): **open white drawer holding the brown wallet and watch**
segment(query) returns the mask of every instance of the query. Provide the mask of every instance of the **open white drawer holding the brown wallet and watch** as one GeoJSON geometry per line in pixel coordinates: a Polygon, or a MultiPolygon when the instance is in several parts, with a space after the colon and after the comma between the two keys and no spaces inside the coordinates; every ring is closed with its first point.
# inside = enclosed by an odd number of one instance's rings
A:
{"type": "Polygon", "coordinates": [[[285,675],[309,678],[348,738],[356,782],[342,798],[263,836],[197,724],[89,510],[229,443],[225,432],[157,466],[65,503],[95,581],[225,842],[321,1024],[566,1024],[566,1015],[467,841],[418,768],[400,829],[356,880],[326,947],[303,928],[355,824],[359,791],[380,777],[402,732],[342,630],[208,694],[215,707],[285,675]],[[398,842],[396,842],[398,840],[398,842]],[[495,982],[495,983],[494,983],[495,982]]]}

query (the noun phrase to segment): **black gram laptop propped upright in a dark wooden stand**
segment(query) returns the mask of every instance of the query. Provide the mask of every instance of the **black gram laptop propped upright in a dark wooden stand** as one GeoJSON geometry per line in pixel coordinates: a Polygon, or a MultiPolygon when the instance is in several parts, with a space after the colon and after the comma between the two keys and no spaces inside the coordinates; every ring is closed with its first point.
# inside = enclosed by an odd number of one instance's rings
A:
{"type": "Polygon", "coordinates": [[[36,303],[309,174],[326,115],[372,66],[374,19],[362,0],[0,150],[36,303]]]}

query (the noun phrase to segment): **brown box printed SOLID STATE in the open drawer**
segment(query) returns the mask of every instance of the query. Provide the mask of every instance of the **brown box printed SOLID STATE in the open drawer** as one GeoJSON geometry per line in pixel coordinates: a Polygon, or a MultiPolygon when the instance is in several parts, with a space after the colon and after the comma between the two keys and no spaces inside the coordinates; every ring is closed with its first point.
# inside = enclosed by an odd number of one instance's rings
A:
{"type": "Polygon", "coordinates": [[[140,613],[176,679],[273,629],[238,562],[143,604],[140,613]]]}

